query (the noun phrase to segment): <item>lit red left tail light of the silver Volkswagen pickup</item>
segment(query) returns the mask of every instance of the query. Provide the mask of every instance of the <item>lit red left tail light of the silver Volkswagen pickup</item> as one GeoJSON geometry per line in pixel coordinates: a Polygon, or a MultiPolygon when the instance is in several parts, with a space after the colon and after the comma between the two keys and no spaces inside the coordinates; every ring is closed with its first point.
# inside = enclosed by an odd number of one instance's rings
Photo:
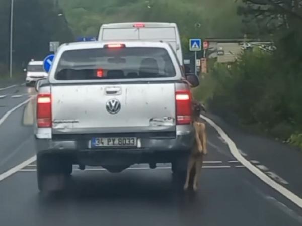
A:
{"type": "Polygon", "coordinates": [[[50,94],[39,94],[37,97],[37,124],[39,128],[52,126],[50,94]]]}

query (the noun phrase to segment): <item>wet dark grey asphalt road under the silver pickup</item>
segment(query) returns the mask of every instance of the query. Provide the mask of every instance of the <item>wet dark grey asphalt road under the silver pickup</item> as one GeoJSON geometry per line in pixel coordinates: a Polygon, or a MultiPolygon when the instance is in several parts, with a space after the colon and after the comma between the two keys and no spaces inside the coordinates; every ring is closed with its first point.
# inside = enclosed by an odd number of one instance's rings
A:
{"type": "MultiPolygon", "coordinates": [[[[17,86],[1,95],[0,118],[34,91],[17,86]]],[[[0,125],[0,175],[35,154],[32,107],[30,101],[0,125]]],[[[196,194],[176,188],[169,165],[140,165],[120,174],[74,168],[64,194],[44,196],[33,162],[0,181],[0,225],[302,225],[301,209],[236,162],[210,126],[208,140],[196,194]]]]}

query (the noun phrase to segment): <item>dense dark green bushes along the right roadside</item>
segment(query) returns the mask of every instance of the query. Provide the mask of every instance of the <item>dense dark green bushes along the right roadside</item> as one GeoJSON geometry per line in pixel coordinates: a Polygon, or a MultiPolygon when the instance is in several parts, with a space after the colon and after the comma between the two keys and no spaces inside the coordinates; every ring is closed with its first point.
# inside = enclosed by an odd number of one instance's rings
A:
{"type": "Polygon", "coordinates": [[[215,63],[196,94],[226,120],[302,148],[302,66],[297,59],[284,59],[278,51],[245,52],[234,63],[215,63]]]}

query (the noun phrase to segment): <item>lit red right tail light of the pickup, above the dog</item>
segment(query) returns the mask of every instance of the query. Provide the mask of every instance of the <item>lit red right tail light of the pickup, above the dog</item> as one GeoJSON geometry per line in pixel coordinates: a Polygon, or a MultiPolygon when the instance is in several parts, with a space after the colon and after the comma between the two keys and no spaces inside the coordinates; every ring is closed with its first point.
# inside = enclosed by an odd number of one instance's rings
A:
{"type": "Polygon", "coordinates": [[[176,91],[176,122],[177,125],[191,123],[191,92],[189,90],[176,91]]]}

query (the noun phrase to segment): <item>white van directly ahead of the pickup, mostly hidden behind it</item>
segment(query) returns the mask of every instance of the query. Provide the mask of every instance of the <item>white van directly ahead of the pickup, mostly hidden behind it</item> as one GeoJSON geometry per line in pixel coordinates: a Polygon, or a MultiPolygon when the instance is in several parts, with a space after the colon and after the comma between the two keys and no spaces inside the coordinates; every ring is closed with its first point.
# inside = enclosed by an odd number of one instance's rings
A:
{"type": "Polygon", "coordinates": [[[179,63],[183,66],[183,55],[179,31],[175,23],[114,23],[103,24],[99,41],[163,41],[171,45],[179,63]]]}

